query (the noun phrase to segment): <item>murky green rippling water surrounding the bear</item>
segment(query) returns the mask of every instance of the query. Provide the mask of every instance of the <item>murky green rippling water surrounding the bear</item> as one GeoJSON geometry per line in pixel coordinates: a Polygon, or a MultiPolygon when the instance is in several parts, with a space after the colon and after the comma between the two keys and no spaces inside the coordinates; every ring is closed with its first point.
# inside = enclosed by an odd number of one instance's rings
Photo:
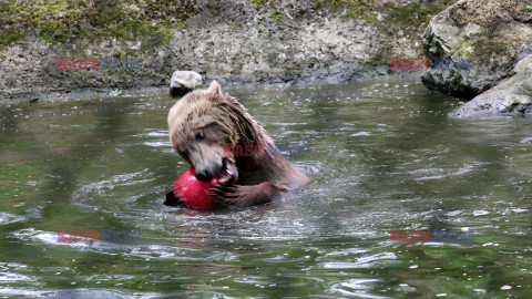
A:
{"type": "Polygon", "coordinates": [[[170,208],[187,165],[165,93],[0,109],[0,297],[532,296],[531,118],[448,120],[452,102],[413,81],[229,92],[278,144],[308,145],[289,159],[313,185],[255,208],[170,208]]]}

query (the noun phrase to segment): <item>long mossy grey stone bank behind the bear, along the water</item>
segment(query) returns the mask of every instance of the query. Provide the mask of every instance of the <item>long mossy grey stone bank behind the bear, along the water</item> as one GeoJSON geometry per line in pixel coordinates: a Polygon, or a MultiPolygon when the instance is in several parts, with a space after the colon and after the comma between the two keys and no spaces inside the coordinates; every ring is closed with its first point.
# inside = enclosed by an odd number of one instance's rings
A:
{"type": "MultiPolygon", "coordinates": [[[[25,8],[33,13],[22,16],[38,21],[4,24],[11,35],[3,37],[0,50],[0,101],[164,89],[175,70],[196,71],[225,85],[345,83],[388,75],[389,56],[422,55],[428,21],[452,2],[197,0],[154,7],[123,1],[105,8],[35,2],[25,8]],[[120,30],[113,18],[125,20],[120,30]],[[142,66],[58,70],[58,56],[78,65],[92,58],[140,59],[142,66]]],[[[16,14],[24,10],[20,3],[3,3],[2,11],[16,14]]]]}

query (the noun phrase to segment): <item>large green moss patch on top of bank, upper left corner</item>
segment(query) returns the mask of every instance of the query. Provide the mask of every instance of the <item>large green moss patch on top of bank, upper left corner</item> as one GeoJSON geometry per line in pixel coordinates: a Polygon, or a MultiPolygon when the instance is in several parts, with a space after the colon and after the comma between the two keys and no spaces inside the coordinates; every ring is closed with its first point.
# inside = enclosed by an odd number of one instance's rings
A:
{"type": "Polygon", "coordinates": [[[194,12],[195,0],[35,0],[0,3],[0,49],[34,33],[68,45],[79,41],[142,41],[141,50],[172,39],[171,27],[182,27],[194,12]]]}

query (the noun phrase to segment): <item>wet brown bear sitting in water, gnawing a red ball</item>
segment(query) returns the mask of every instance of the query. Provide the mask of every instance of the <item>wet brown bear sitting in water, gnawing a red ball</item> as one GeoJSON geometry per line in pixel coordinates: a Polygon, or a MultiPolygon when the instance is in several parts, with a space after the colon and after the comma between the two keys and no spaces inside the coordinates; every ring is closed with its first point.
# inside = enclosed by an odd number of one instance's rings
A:
{"type": "MultiPolygon", "coordinates": [[[[197,179],[219,177],[221,185],[211,192],[223,206],[266,204],[309,183],[278,151],[272,151],[276,150],[272,137],[236,99],[223,94],[216,81],[178,100],[170,110],[168,127],[173,147],[195,168],[197,179]],[[249,151],[243,154],[239,148],[249,151]]],[[[168,192],[164,204],[183,202],[182,195],[168,192]]]]}

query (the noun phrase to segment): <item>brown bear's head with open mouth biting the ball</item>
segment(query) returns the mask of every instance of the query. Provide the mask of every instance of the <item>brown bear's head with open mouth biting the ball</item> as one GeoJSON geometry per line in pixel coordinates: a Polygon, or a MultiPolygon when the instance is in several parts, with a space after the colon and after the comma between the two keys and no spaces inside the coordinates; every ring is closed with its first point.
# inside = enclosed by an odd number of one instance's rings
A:
{"type": "Polygon", "coordinates": [[[216,81],[207,90],[178,100],[170,110],[168,127],[173,147],[203,182],[216,175],[222,183],[238,179],[235,156],[227,154],[227,145],[269,140],[236,99],[223,94],[216,81]]]}

